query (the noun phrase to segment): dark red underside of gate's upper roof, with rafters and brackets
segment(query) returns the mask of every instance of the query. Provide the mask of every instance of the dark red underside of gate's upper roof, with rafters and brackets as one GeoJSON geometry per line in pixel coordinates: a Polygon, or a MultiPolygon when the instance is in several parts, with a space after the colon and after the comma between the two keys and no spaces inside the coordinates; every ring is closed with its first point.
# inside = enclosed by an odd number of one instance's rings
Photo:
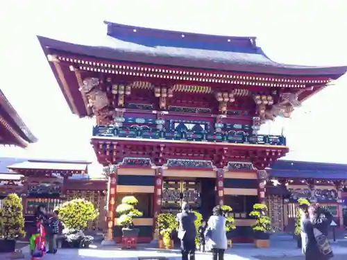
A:
{"type": "MultiPolygon", "coordinates": [[[[264,105],[257,103],[262,121],[274,119],[278,114],[289,117],[294,110],[291,101],[299,101],[301,98],[305,98],[306,94],[300,95],[307,92],[308,89],[310,89],[310,92],[315,92],[330,83],[328,76],[273,76],[225,71],[212,72],[188,68],[109,62],[65,53],[49,55],[49,61],[53,62],[56,68],[62,89],[71,104],[71,110],[80,116],[97,115],[99,111],[94,110],[94,105],[90,104],[90,94],[82,92],[81,100],[85,105],[85,112],[78,112],[76,101],[71,96],[71,89],[69,89],[65,80],[65,78],[71,78],[67,77],[69,72],[74,73],[76,83],[80,89],[83,89],[87,78],[98,78],[101,86],[112,83],[112,93],[115,92],[118,96],[118,104],[115,103],[114,105],[120,107],[124,106],[125,98],[121,92],[126,92],[127,89],[129,93],[130,89],[152,89],[155,97],[159,98],[158,103],[161,110],[167,110],[170,98],[175,95],[174,92],[213,93],[219,102],[219,111],[222,113],[226,112],[228,104],[233,103],[236,96],[251,96],[253,94],[256,98],[265,93],[267,94],[266,98],[271,98],[267,104],[270,105],[272,102],[273,105],[266,108],[266,105],[264,107],[264,105]],[[119,82],[119,80],[122,82],[119,82]],[[165,85],[165,82],[168,85],[165,85]],[[115,86],[117,89],[115,89],[115,86]],[[119,89],[121,87],[123,89],[119,89]],[[283,89],[286,89],[285,93],[282,93],[283,89]],[[286,95],[288,98],[283,101],[281,98],[286,97],[286,95]],[[294,97],[294,95],[296,96],[294,97]],[[287,101],[290,101],[289,105],[282,104],[287,104],[287,101]]],[[[70,83],[70,87],[74,87],[72,85],[76,83],[70,83]]],[[[93,97],[96,96],[98,95],[93,97]]],[[[103,107],[106,107],[108,104],[105,93],[101,95],[101,99],[103,99],[103,107]]]]}

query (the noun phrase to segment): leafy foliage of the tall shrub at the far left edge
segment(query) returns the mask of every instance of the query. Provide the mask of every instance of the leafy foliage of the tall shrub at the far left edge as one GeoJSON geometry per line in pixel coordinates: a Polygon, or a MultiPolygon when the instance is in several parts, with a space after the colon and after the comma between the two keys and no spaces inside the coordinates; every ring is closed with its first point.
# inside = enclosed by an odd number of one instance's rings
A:
{"type": "Polygon", "coordinates": [[[22,200],[15,193],[3,199],[0,209],[0,238],[17,239],[25,236],[22,200]]]}

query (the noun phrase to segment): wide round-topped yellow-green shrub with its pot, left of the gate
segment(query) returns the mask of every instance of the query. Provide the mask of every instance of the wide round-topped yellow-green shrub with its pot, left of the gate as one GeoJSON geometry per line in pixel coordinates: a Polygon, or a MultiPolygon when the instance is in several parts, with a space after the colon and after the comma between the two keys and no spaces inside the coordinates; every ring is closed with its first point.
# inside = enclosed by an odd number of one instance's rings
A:
{"type": "Polygon", "coordinates": [[[84,199],[70,200],[57,208],[59,218],[64,223],[63,248],[88,248],[94,238],[85,236],[83,231],[88,223],[99,216],[99,211],[94,208],[92,202],[84,199]]]}

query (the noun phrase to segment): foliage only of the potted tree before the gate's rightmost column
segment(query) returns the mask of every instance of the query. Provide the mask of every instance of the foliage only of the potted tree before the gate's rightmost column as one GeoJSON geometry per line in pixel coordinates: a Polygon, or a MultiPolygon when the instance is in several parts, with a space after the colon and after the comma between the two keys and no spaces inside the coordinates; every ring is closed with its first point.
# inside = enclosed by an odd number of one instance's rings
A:
{"type": "Polygon", "coordinates": [[[249,216],[255,217],[255,224],[252,226],[254,231],[258,232],[273,232],[271,227],[271,220],[269,216],[266,216],[267,206],[262,203],[256,203],[253,205],[253,211],[249,216]]]}

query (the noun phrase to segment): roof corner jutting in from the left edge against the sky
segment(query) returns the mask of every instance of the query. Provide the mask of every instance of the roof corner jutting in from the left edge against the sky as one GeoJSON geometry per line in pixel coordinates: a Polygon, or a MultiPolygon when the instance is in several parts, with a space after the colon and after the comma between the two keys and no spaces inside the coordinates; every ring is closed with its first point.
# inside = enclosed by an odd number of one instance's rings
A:
{"type": "MultiPolygon", "coordinates": [[[[31,130],[26,126],[24,121],[21,119],[17,111],[10,104],[10,101],[6,98],[3,92],[0,89],[0,111],[1,118],[8,123],[8,127],[12,128],[12,130],[7,129],[18,139],[17,143],[14,145],[18,145],[22,148],[28,146],[28,144],[33,144],[37,141],[37,138],[33,135],[31,130]],[[15,133],[13,133],[13,131],[15,133]]],[[[5,126],[6,127],[6,126],[5,126]]]]}

